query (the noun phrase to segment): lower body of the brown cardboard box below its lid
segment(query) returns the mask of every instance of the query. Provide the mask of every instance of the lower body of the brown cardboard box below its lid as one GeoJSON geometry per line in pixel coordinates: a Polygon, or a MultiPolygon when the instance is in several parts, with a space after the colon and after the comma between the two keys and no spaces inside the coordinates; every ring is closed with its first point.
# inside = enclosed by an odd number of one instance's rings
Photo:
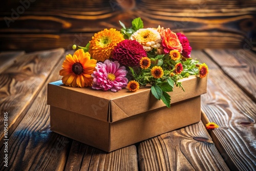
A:
{"type": "Polygon", "coordinates": [[[106,152],[199,122],[200,96],[177,102],[171,108],[148,111],[103,122],[51,106],[51,130],[106,152]]]}

